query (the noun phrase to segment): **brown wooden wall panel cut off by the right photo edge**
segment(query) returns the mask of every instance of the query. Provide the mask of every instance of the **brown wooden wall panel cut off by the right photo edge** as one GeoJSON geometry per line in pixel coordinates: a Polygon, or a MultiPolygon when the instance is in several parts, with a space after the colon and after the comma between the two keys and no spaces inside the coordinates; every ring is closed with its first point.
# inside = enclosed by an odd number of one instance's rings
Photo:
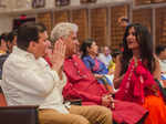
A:
{"type": "Polygon", "coordinates": [[[166,7],[156,9],[156,44],[166,44],[166,7]]]}

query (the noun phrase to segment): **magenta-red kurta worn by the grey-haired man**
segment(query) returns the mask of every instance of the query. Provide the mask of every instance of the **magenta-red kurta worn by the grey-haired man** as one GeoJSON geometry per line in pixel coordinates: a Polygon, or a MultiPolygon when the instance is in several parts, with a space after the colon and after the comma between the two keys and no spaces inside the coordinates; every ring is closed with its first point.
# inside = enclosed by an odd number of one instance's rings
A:
{"type": "MultiPolygon", "coordinates": [[[[73,55],[66,59],[64,72],[68,76],[68,83],[63,90],[64,99],[81,99],[83,105],[102,105],[102,96],[106,95],[107,91],[95,80],[80,58],[73,55]]],[[[113,118],[118,124],[136,124],[146,113],[147,111],[138,104],[115,101],[113,118]]]]}

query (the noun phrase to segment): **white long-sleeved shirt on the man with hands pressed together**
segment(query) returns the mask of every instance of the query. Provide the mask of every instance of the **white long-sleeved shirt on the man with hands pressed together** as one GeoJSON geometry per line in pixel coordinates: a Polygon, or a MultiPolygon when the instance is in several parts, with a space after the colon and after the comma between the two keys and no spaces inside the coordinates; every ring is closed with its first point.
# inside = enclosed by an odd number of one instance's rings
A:
{"type": "Polygon", "coordinates": [[[40,105],[40,108],[54,108],[69,113],[63,104],[62,89],[66,83],[59,79],[44,59],[17,46],[3,65],[2,90],[8,105],[40,105]]]}

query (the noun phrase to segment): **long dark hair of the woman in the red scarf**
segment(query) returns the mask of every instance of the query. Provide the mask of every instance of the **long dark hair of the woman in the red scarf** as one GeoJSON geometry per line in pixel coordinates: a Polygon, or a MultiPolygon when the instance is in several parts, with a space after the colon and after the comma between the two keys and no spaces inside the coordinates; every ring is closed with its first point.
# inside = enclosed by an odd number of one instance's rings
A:
{"type": "Polygon", "coordinates": [[[133,23],[129,24],[126,28],[125,34],[124,34],[124,41],[123,41],[123,46],[124,51],[122,53],[122,71],[121,74],[125,73],[127,71],[129,60],[133,58],[133,52],[132,50],[128,49],[127,46],[127,41],[126,38],[128,35],[128,31],[131,28],[135,29],[135,35],[136,40],[139,44],[139,51],[141,51],[141,59],[143,61],[143,64],[151,71],[153,72],[155,69],[154,64],[154,54],[153,54],[153,41],[152,41],[152,35],[148,32],[146,27],[141,25],[139,23],[133,23]]]}

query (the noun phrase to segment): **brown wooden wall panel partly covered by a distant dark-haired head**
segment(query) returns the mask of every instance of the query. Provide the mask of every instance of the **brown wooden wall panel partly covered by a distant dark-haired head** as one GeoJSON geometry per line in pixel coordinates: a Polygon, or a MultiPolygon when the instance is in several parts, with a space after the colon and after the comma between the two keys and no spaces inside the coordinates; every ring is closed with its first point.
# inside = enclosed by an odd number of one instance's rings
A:
{"type": "Polygon", "coordinates": [[[117,49],[120,44],[123,42],[123,35],[125,33],[125,28],[121,27],[118,23],[118,19],[121,17],[128,17],[127,4],[117,6],[111,8],[111,48],[117,49]]]}

